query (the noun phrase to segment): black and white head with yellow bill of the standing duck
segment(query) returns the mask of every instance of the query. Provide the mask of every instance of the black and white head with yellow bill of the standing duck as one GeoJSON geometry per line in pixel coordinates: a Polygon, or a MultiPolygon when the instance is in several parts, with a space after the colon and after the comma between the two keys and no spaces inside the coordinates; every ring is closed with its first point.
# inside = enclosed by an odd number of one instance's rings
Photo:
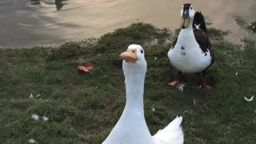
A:
{"type": "Polygon", "coordinates": [[[195,16],[195,11],[192,4],[183,4],[181,11],[180,11],[180,28],[184,29],[187,28],[190,22],[193,22],[195,16]]]}

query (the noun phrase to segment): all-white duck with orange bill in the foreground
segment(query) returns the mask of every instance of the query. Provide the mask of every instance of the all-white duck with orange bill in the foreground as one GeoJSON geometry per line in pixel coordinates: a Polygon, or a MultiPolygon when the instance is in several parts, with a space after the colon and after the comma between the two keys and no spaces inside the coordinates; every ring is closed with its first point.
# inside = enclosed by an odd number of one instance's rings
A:
{"type": "Polygon", "coordinates": [[[102,144],[183,144],[182,116],[151,136],[144,118],[143,93],[147,62],[140,45],[132,44],[123,59],[126,105],[122,116],[102,144]]]}

